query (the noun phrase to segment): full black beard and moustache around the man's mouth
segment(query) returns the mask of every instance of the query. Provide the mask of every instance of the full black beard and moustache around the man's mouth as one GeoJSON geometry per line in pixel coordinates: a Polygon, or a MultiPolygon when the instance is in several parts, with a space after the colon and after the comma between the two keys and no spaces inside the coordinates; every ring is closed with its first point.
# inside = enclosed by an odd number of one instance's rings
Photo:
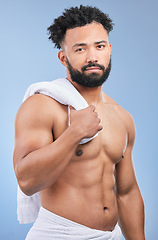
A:
{"type": "Polygon", "coordinates": [[[67,59],[67,65],[68,65],[67,67],[71,76],[71,80],[73,82],[76,82],[79,85],[84,87],[93,88],[93,87],[99,87],[104,82],[106,82],[111,71],[111,58],[110,58],[108,67],[106,69],[103,65],[100,65],[98,63],[89,63],[88,65],[83,66],[80,72],[71,66],[68,59],[67,59]],[[101,75],[95,72],[90,74],[85,74],[86,68],[88,67],[99,67],[103,71],[103,73],[101,75]]]}

